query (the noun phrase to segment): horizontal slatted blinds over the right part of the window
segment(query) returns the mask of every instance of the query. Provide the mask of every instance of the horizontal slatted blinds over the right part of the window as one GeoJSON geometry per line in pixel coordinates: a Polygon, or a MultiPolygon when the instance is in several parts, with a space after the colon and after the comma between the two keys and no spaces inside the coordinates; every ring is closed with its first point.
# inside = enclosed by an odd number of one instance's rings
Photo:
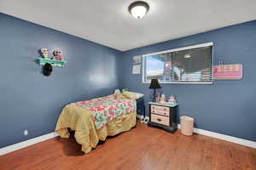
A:
{"type": "Polygon", "coordinates": [[[212,82],[212,46],[172,52],[172,82],[212,82]]]}

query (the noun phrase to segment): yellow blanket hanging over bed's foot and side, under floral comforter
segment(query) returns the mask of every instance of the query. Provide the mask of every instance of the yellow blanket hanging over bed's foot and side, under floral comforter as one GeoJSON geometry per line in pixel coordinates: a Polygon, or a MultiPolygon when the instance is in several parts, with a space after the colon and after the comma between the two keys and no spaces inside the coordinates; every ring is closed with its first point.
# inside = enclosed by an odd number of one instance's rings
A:
{"type": "Polygon", "coordinates": [[[99,140],[106,140],[107,136],[114,136],[131,129],[136,125],[137,112],[116,117],[112,122],[100,129],[96,129],[91,119],[90,111],[76,106],[67,105],[61,111],[55,127],[55,132],[59,133],[61,138],[68,138],[67,128],[75,131],[75,139],[82,144],[82,150],[89,153],[92,148],[96,148],[99,140]]]}

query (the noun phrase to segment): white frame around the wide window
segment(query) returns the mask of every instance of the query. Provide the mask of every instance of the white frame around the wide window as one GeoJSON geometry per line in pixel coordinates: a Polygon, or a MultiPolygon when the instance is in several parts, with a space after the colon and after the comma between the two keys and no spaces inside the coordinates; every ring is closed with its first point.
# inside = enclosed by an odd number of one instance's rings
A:
{"type": "Polygon", "coordinates": [[[212,81],[211,82],[162,82],[162,81],[160,81],[160,83],[166,83],[166,84],[212,84],[213,83],[213,42],[201,43],[201,44],[196,44],[196,45],[187,46],[187,47],[183,47],[183,48],[167,49],[164,51],[155,52],[155,53],[151,53],[151,54],[143,54],[142,55],[142,58],[143,58],[143,60],[142,60],[143,61],[143,83],[150,83],[150,81],[147,82],[144,80],[146,57],[152,56],[152,55],[157,55],[157,54],[166,54],[166,53],[172,53],[172,52],[177,52],[177,51],[183,51],[183,50],[193,49],[193,48],[205,48],[205,47],[210,47],[210,46],[212,46],[212,81]]]}

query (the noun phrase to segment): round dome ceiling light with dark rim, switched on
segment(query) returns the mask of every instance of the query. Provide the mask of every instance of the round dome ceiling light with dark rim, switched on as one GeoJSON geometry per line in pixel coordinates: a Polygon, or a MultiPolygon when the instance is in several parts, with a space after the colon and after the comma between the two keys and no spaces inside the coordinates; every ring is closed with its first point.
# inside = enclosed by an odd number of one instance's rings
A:
{"type": "Polygon", "coordinates": [[[143,1],[137,1],[131,3],[129,6],[129,12],[136,19],[141,19],[145,14],[148,13],[149,5],[143,1]]]}

